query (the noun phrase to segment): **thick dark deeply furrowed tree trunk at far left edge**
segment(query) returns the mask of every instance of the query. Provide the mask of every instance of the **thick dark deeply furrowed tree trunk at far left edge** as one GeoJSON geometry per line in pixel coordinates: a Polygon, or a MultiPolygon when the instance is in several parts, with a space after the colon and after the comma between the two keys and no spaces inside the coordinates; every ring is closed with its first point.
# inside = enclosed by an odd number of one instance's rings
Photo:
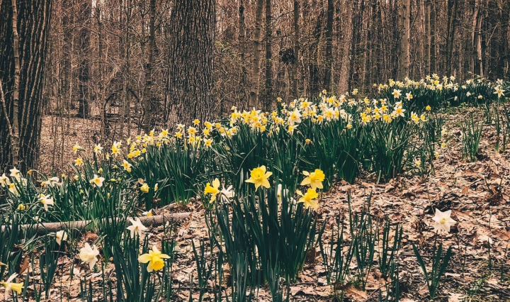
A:
{"type": "Polygon", "coordinates": [[[11,155],[15,150],[18,150],[15,152],[18,153],[18,169],[21,171],[35,168],[38,163],[40,111],[51,8],[50,0],[18,1],[18,3],[0,1],[0,16],[2,16],[0,77],[4,85],[7,111],[6,115],[3,109],[0,110],[0,169],[13,164],[11,155]],[[15,24],[4,21],[15,21],[15,24]],[[15,45],[16,39],[18,39],[18,45],[15,45]],[[16,108],[16,102],[18,108],[16,108]],[[18,145],[13,146],[7,125],[8,121],[13,125],[16,120],[19,142],[18,145]]]}

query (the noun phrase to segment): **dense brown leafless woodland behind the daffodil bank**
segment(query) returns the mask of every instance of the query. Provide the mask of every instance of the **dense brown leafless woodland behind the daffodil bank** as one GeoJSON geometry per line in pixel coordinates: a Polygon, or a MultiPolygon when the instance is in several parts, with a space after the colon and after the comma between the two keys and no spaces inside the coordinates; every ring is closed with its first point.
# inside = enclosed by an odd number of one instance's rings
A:
{"type": "Polygon", "coordinates": [[[47,115],[97,121],[105,144],[278,96],[510,72],[509,0],[0,0],[0,16],[0,170],[38,166],[47,115]]]}

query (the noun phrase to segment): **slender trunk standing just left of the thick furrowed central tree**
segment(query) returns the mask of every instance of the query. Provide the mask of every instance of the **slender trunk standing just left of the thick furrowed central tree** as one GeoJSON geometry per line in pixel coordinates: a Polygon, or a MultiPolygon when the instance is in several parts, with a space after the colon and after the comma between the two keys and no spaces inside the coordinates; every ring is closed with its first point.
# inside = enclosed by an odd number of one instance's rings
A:
{"type": "Polygon", "coordinates": [[[144,123],[143,130],[149,133],[152,127],[152,65],[154,63],[154,33],[156,23],[156,0],[150,0],[149,9],[149,49],[147,50],[147,64],[145,65],[144,88],[144,123]]]}

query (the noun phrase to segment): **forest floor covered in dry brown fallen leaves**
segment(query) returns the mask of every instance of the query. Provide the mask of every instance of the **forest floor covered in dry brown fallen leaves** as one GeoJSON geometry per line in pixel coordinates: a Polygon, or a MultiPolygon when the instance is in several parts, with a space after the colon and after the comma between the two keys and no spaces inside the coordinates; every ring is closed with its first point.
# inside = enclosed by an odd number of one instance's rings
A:
{"type": "MultiPolygon", "coordinates": [[[[359,211],[368,194],[372,194],[371,213],[380,220],[388,216],[392,223],[402,224],[404,237],[398,255],[401,301],[427,301],[428,290],[411,243],[416,243],[422,255],[431,255],[436,240],[442,240],[446,247],[453,247],[453,257],[443,276],[436,301],[510,301],[510,197],[507,191],[510,184],[510,150],[494,150],[494,126],[486,125],[480,142],[479,160],[465,162],[462,159],[458,122],[466,111],[472,110],[463,109],[446,119],[448,135],[452,139],[446,149],[441,150],[435,162],[435,174],[429,179],[403,174],[387,184],[376,184],[375,176],[368,174],[357,179],[355,184],[339,182],[323,196],[318,215],[321,223],[327,223],[324,233],[326,242],[329,242],[339,215],[346,219],[344,225],[348,228],[348,192],[351,192],[354,211],[359,211]],[[433,232],[431,218],[435,208],[452,210],[452,218],[457,221],[447,235],[438,236],[433,232]]],[[[45,130],[50,125],[47,118],[44,121],[42,133],[48,133],[45,130]]],[[[74,138],[85,146],[85,133],[80,130],[83,128],[72,124],[77,133],[74,138]]],[[[65,150],[72,150],[74,138],[67,140],[70,145],[65,150]]],[[[50,150],[51,146],[47,145],[50,143],[51,140],[43,139],[41,150],[50,150]]],[[[74,156],[72,152],[69,153],[70,157],[74,156]]],[[[51,162],[51,157],[50,152],[42,152],[41,162],[51,162]]],[[[208,228],[199,202],[169,211],[192,213],[191,218],[181,223],[176,231],[177,255],[173,273],[174,288],[182,289],[176,290],[173,301],[190,301],[191,276],[197,279],[191,241],[198,243],[201,238],[206,239],[208,228]]],[[[163,236],[162,227],[154,228],[147,234],[149,242],[156,242],[158,237],[163,236]]],[[[81,245],[93,238],[94,234],[84,235],[81,245]]],[[[349,240],[348,236],[346,240],[349,240]]],[[[318,250],[317,247],[315,255],[309,257],[297,283],[290,287],[292,301],[335,301],[318,250]]],[[[424,258],[430,269],[430,257],[424,258]]],[[[48,301],[60,301],[61,290],[66,293],[64,296],[69,294],[69,301],[81,301],[79,278],[90,278],[93,283],[99,283],[103,278],[101,272],[86,275],[90,271],[85,267],[86,264],[80,264],[79,259],[63,257],[57,269],[62,274],[57,274],[55,289],[48,301]],[[77,277],[69,280],[71,262],[74,262],[77,277]],[[81,269],[82,265],[84,267],[81,269]]],[[[114,272],[107,270],[105,274],[112,276],[114,272]]],[[[229,274],[228,269],[225,274],[229,274]]],[[[373,267],[365,291],[356,284],[341,286],[346,296],[344,301],[378,301],[378,289],[383,289],[384,284],[385,280],[380,277],[378,269],[373,267]]],[[[97,294],[102,295],[100,292],[97,294]]],[[[256,301],[271,301],[268,289],[261,289],[258,294],[256,301]]],[[[193,293],[193,301],[198,301],[198,293],[193,293]]]]}

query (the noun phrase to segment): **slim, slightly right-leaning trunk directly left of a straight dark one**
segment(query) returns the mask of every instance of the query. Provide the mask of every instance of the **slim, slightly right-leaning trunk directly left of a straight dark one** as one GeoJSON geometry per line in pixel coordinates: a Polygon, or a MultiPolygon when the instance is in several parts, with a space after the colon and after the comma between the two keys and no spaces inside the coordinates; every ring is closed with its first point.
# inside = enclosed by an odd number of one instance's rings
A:
{"type": "Polygon", "coordinates": [[[256,107],[259,102],[263,3],[264,0],[257,0],[255,9],[254,60],[251,69],[250,108],[256,107]]]}

